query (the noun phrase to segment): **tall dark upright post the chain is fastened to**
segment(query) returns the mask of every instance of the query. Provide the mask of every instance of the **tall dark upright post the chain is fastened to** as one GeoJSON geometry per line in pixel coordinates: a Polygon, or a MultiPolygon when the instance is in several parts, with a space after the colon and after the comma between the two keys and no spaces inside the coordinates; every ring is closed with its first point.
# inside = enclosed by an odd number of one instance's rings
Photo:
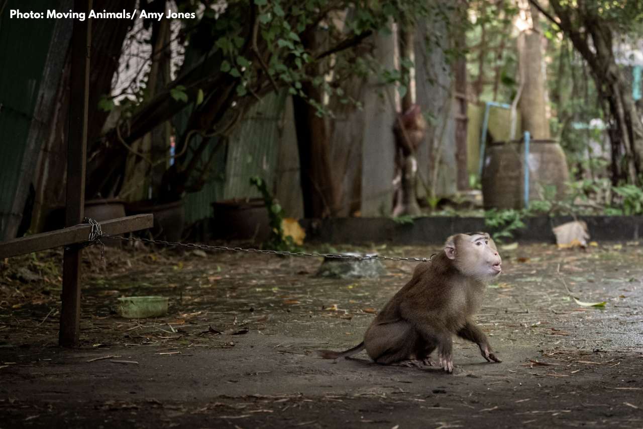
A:
{"type": "MultiPolygon", "coordinates": [[[[74,0],[74,12],[91,10],[92,0],[74,0]]],[[[67,195],[65,225],[80,224],[85,206],[87,160],[87,105],[89,102],[89,50],[91,19],[74,21],[71,33],[71,97],[69,99],[69,143],[67,149],[67,195]]],[[[65,247],[62,263],[62,308],[59,344],[78,344],[80,330],[80,255],[77,244],[65,247]]]]}

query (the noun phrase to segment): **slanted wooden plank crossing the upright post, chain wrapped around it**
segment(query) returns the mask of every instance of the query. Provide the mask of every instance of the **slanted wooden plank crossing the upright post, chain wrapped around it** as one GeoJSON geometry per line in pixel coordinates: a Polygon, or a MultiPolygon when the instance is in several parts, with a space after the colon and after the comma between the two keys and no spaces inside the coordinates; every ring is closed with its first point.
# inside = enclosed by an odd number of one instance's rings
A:
{"type": "MultiPolygon", "coordinates": [[[[105,234],[118,235],[151,228],[154,224],[153,214],[136,214],[99,222],[105,234]]],[[[33,234],[22,238],[14,238],[0,242],[0,259],[32,253],[73,243],[86,242],[91,227],[89,224],[74,225],[73,227],[57,229],[49,233],[33,234]]]]}

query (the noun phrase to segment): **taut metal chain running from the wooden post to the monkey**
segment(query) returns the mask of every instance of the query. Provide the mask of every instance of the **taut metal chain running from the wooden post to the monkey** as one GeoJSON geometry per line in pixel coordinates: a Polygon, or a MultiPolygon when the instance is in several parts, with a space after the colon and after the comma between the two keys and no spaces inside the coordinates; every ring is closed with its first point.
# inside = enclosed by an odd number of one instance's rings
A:
{"type": "MultiPolygon", "coordinates": [[[[99,225],[100,227],[100,225],[99,225]]],[[[281,256],[312,256],[314,258],[337,258],[337,259],[358,259],[358,260],[378,260],[378,261],[408,261],[408,262],[426,262],[430,258],[405,258],[404,256],[379,256],[379,255],[354,255],[354,254],[336,254],[336,253],[316,253],[316,252],[289,252],[289,251],[274,251],[262,249],[244,249],[242,247],[228,247],[228,246],[212,246],[207,244],[196,243],[177,243],[167,242],[165,240],[151,240],[150,238],[135,238],[135,237],[122,237],[120,235],[100,234],[100,238],[112,238],[114,240],[122,240],[125,242],[143,242],[150,244],[161,244],[167,246],[186,247],[188,249],[201,249],[201,250],[215,250],[215,251],[229,251],[229,252],[242,252],[242,253],[264,253],[264,254],[278,254],[281,256]]]]}

